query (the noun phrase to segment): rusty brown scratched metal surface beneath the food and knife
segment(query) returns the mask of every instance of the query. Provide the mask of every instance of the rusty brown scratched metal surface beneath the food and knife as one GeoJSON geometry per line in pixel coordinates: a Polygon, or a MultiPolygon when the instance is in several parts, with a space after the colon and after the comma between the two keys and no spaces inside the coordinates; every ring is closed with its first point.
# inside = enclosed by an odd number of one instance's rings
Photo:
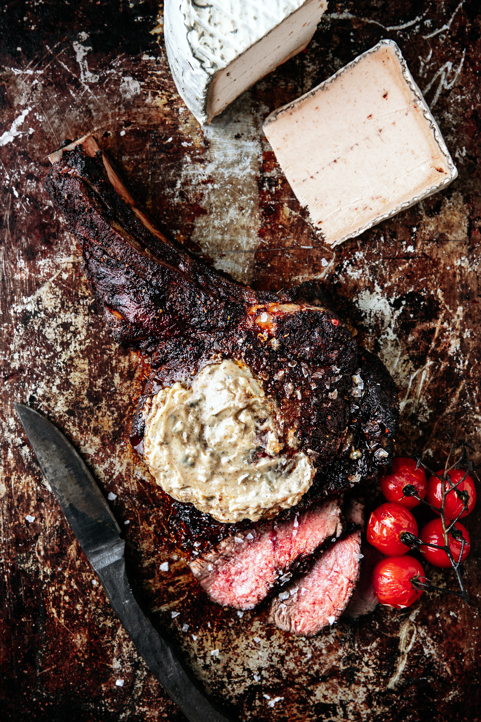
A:
{"type": "MultiPolygon", "coordinates": [[[[477,550],[466,565],[472,606],[424,595],[406,614],[341,619],[308,641],[266,627],[262,610],[239,618],[208,604],[128,445],[144,361],[112,342],[42,183],[47,152],[96,129],[152,216],[194,253],[259,288],[332,284],[358,339],[400,386],[399,453],[421,451],[436,466],[446,422],[479,448],[475,0],[330,2],[306,52],[202,130],[175,92],[154,1],[9,0],[0,12],[1,718],[182,719],[66,529],[14,416],[17,400],[53,419],[117,495],[112,510],[152,613],[235,716],[479,719],[477,550]],[[294,199],[262,120],[387,37],[425,93],[459,179],[331,251],[294,199]]],[[[368,504],[377,493],[366,486],[368,504]]],[[[467,520],[477,549],[479,518],[467,520]]],[[[434,576],[449,583],[449,573],[434,576]]]]}

